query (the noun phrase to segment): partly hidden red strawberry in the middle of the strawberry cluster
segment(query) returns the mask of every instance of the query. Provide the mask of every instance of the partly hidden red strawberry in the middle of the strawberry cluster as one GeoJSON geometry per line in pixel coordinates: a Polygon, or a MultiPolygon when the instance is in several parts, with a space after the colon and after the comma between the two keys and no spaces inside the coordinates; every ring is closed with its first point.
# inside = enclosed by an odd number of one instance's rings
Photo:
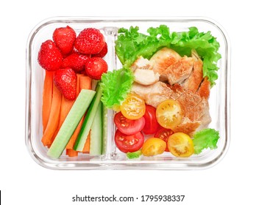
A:
{"type": "Polygon", "coordinates": [[[85,62],[87,62],[88,59],[90,59],[89,56],[79,53],[72,53],[63,59],[62,67],[71,67],[75,72],[81,72],[85,70],[85,62]]]}

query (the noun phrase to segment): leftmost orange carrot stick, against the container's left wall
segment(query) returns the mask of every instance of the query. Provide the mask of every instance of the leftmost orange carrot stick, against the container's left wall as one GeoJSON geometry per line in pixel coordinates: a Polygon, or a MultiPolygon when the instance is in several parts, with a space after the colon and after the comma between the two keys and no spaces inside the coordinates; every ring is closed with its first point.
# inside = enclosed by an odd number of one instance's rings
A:
{"type": "Polygon", "coordinates": [[[53,75],[54,75],[54,72],[46,70],[46,76],[44,78],[44,83],[43,83],[43,108],[42,108],[43,133],[46,130],[46,126],[47,126],[50,112],[51,112],[53,75]]]}

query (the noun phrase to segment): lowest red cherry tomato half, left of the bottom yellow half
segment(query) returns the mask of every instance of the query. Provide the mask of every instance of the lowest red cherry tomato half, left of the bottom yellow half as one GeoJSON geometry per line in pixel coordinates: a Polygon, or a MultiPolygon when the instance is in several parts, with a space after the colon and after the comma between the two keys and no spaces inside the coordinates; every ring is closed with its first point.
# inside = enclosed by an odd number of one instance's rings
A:
{"type": "Polygon", "coordinates": [[[115,131],[115,145],[121,152],[136,152],[143,146],[144,136],[141,132],[134,135],[125,135],[119,130],[115,131]]]}

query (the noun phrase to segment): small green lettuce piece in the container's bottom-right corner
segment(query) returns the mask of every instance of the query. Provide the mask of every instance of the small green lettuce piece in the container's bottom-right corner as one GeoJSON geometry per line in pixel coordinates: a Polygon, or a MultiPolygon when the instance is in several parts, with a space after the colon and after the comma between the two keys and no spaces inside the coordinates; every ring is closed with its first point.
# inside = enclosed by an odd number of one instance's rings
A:
{"type": "Polygon", "coordinates": [[[218,131],[206,128],[193,135],[194,153],[200,154],[203,149],[216,149],[219,138],[218,131]]]}

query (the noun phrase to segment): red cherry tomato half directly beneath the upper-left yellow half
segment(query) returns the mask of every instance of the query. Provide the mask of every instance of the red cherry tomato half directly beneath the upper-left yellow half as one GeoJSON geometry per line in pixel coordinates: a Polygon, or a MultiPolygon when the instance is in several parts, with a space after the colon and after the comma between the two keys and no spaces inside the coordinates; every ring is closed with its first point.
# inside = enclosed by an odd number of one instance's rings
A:
{"type": "Polygon", "coordinates": [[[141,132],[145,125],[143,116],[140,119],[127,119],[121,112],[115,114],[114,122],[118,130],[126,135],[141,132]]]}

